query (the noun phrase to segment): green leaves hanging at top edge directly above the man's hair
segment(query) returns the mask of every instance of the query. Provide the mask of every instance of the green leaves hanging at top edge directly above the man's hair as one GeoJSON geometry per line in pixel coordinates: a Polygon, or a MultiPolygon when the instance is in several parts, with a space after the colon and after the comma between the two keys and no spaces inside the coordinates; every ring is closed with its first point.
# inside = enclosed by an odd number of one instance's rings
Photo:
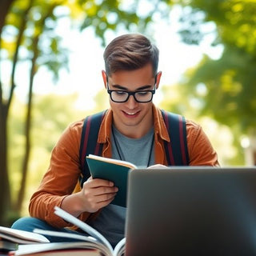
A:
{"type": "MultiPolygon", "coordinates": [[[[158,9],[159,0],[154,1],[154,8],[150,9],[146,14],[139,14],[139,5],[142,1],[130,1],[129,8],[123,6],[125,1],[109,0],[109,1],[83,1],[80,0],[82,10],[84,11],[84,20],[81,29],[84,30],[88,26],[94,28],[95,34],[102,38],[102,45],[106,45],[106,33],[109,30],[133,31],[134,26],[136,32],[144,32],[153,21],[153,14],[160,12],[158,9]]],[[[169,10],[166,5],[166,12],[169,10]]]]}

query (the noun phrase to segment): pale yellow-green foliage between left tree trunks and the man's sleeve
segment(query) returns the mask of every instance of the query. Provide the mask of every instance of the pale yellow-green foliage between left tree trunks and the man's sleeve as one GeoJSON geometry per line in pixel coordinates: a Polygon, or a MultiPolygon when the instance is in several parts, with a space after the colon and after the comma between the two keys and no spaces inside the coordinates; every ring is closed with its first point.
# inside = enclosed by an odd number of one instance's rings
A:
{"type": "MultiPolygon", "coordinates": [[[[29,174],[26,182],[26,202],[23,203],[22,214],[27,213],[30,196],[38,188],[50,163],[50,152],[63,130],[70,122],[84,118],[87,114],[75,107],[78,95],[34,95],[34,111],[32,130],[32,152],[29,164],[29,174]]],[[[10,145],[10,180],[13,197],[16,198],[21,181],[21,165],[24,154],[25,136],[23,133],[23,117],[26,104],[14,101],[9,122],[10,145]]]]}

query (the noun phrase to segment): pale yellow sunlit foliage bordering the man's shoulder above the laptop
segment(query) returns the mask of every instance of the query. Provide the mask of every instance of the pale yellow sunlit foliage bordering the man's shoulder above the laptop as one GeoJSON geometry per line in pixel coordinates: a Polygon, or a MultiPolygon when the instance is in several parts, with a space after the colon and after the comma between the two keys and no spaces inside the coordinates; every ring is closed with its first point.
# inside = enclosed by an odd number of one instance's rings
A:
{"type": "Polygon", "coordinates": [[[218,153],[221,166],[244,165],[244,152],[238,140],[238,130],[234,127],[230,129],[230,126],[218,123],[210,115],[202,114],[201,106],[204,99],[199,96],[192,97],[187,87],[182,84],[161,86],[161,92],[164,95],[164,100],[160,103],[161,108],[182,114],[202,126],[218,153]]]}

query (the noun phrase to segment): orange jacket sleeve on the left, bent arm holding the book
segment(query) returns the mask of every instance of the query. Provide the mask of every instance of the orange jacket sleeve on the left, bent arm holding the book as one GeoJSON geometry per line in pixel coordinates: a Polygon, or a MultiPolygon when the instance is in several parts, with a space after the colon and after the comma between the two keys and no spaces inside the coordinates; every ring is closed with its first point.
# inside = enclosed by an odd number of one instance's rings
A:
{"type": "MultiPolygon", "coordinates": [[[[50,166],[42,178],[38,190],[30,199],[30,216],[40,218],[52,226],[70,226],[54,214],[54,206],[61,206],[62,200],[72,194],[81,173],[79,146],[82,121],[66,128],[51,153],[50,166]]],[[[82,218],[86,218],[83,214],[82,218]]],[[[80,216],[81,217],[81,216],[80,216]]]]}

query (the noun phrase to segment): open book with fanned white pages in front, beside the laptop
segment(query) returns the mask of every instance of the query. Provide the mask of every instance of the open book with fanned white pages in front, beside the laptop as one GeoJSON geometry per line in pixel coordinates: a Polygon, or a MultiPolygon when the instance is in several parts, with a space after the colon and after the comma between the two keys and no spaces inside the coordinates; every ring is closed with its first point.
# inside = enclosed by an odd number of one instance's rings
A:
{"type": "Polygon", "coordinates": [[[59,217],[70,222],[74,226],[78,226],[81,230],[85,231],[88,235],[71,234],[66,232],[39,230],[35,229],[34,234],[51,235],[63,238],[72,238],[74,242],[50,242],[44,244],[31,244],[19,245],[18,250],[12,251],[10,256],[42,256],[42,255],[103,255],[103,256],[122,256],[124,255],[126,238],[118,242],[117,246],[113,249],[110,242],[102,236],[97,230],[82,222],[73,215],[55,206],[54,213],[59,217]],[[63,254],[61,254],[63,252],[63,254]],[[65,253],[65,254],[64,254],[65,253]]]}

